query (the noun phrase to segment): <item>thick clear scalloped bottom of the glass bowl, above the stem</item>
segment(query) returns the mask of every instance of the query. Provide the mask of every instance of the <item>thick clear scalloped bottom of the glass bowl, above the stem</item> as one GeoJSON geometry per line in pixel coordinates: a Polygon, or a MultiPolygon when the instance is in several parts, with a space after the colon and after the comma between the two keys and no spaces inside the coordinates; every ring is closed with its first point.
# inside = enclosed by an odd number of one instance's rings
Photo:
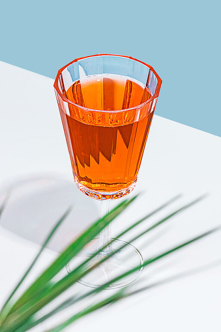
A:
{"type": "Polygon", "coordinates": [[[135,179],[135,181],[129,187],[124,188],[122,190],[108,193],[108,192],[97,191],[94,189],[89,189],[89,188],[85,187],[84,185],[82,185],[82,183],[78,182],[77,179],[74,178],[74,180],[75,180],[77,187],[80,189],[80,191],[82,191],[82,193],[84,193],[85,195],[87,195],[89,197],[93,197],[97,200],[115,200],[115,199],[121,198],[121,197],[129,194],[135,188],[135,184],[137,182],[137,179],[135,179]]]}

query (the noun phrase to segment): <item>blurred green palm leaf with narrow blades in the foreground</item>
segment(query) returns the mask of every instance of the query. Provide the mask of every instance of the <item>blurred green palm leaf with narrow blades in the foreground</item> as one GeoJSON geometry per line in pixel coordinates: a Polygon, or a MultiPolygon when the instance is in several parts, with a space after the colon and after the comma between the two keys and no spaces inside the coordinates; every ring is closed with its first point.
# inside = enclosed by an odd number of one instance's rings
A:
{"type": "MultiPolygon", "coordinates": [[[[94,224],[92,224],[84,233],[82,233],[77,239],[75,239],[58,257],[55,259],[55,261],[34,281],[34,283],[20,296],[19,299],[14,304],[11,304],[11,300],[14,297],[16,290],[19,288],[19,286],[22,284],[23,280],[26,278],[34,264],[36,263],[39,255],[43,251],[44,247],[50,240],[51,236],[56,231],[57,227],[61,224],[61,222],[64,220],[64,218],[69,213],[69,210],[65,212],[65,214],[59,219],[53,230],[50,232],[48,237],[46,238],[45,242],[42,245],[42,248],[40,249],[39,253],[37,254],[36,258],[30,265],[29,269],[24,274],[23,278],[20,280],[16,288],[13,290],[9,298],[7,299],[6,303],[3,306],[3,309],[0,313],[0,332],[25,332],[30,330],[32,327],[36,326],[40,322],[43,322],[45,319],[51,317],[55,313],[60,312],[64,308],[67,308],[74,303],[77,303],[78,301],[82,300],[83,298],[89,297],[93,295],[94,293],[99,293],[100,291],[107,288],[112,283],[123,279],[124,277],[134,273],[135,271],[139,270],[141,267],[147,266],[149,264],[152,264],[153,262],[169,255],[170,253],[179,250],[183,248],[184,246],[199,240],[203,238],[206,235],[211,234],[216,229],[212,229],[206,233],[203,233],[193,239],[190,239],[189,241],[186,241],[174,248],[171,248],[170,250],[167,250],[155,257],[152,257],[148,260],[146,260],[142,265],[139,265],[124,274],[117,276],[116,278],[112,279],[111,281],[105,283],[104,285],[101,285],[100,287],[93,289],[81,296],[73,296],[61,304],[59,304],[55,309],[50,311],[49,313],[45,314],[44,316],[38,318],[36,317],[36,314],[39,310],[41,310],[45,305],[56,299],[62,292],[67,290],[70,286],[75,284],[79,279],[84,277],[86,274],[88,274],[90,271],[95,269],[98,265],[102,264],[104,261],[110,259],[112,255],[115,254],[113,251],[111,254],[107,255],[103,259],[101,259],[99,262],[93,264],[92,266],[89,266],[90,261],[93,257],[97,256],[99,252],[104,250],[104,248],[108,245],[110,245],[114,239],[111,239],[111,241],[105,245],[103,248],[98,250],[96,253],[91,255],[88,259],[86,259],[83,263],[81,263],[78,267],[76,267],[69,275],[66,275],[62,279],[60,279],[57,282],[51,283],[52,279],[57,275],[57,273],[73,258],[75,257],[82,249],[83,247],[90,242],[105,226],[107,226],[119,213],[121,213],[129,204],[133,202],[133,200],[137,196],[133,197],[131,200],[124,200],[122,203],[120,203],[117,207],[112,209],[106,216],[100,218],[97,220],[94,224]]],[[[170,203],[172,203],[175,199],[178,197],[173,198],[172,200],[166,202],[161,207],[155,209],[142,219],[138,220],[137,222],[133,223],[131,226],[126,228],[123,232],[118,234],[117,237],[120,237],[130,231],[135,226],[139,225],[141,222],[149,218],[150,216],[154,215],[170,203]]],[[[181,207],[180,209],[174,211],[173,213],[169,214],[165,218],[159,220],[152,226],[148,227],[145,231],[141,232],[140,234],[133,237],[130,242],[136,240],[140,236],[146,234],[147,232],[151,231],[152,229],[158,227],[162,223],[166,222],[173,216],[175,216],[177,213],[183,211],[184,209],[194,205],[198,201],[200,201],[202,197],[199,199],[190,202],[189,204],[185,205],[184,207],[181,207]]],[[[0,209],[1,210],[1,209],[0,209]]],[[[122,245],[118,250],[122,249],[125,246],[122,245]]],[[[77,314],[70,317],[68,320],[57,326],[56,328],[53,328],[49,330],[48,332],[58,332],[67,325],[69,325],[71,322],[74,322],[76,319],[79,319],[80,317],[85,316],[86,314],[89,314],[90,312],[93,312],[95,310],[98,310],[99,308],[106,306],[114,301],[117,301],[121,298],[124,298],[126,296],[130,295],[130,293],[125,293],[125,288],[121,289],[119,292],[116,292],[114,295],[108,297],[107,299],[95,303],[91,305],[90,307],[85,308],[81,312],[78,312],[77,314]]]]}

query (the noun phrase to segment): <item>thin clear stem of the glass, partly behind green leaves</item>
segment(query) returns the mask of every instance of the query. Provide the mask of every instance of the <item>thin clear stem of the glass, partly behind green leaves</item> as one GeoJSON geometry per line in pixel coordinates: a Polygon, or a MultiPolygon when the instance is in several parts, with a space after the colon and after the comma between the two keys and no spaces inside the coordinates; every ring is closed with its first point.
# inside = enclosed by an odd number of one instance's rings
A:
{"type": "MultiPolygon", "coordinates": [[[[110,211],[111,200],[103,200],[101,201],[101,217],[108,214],[110,211]]],[[[111,241],[111,225],[106,226],[100,233],[99,242],[98,242],[98,250],[102,248],[104,245],[108,244],[111,241]]],[[[112,244],[107,246],[104,250],[102,250],[101,255],[108,255],[112,251],[112,244]]]]}

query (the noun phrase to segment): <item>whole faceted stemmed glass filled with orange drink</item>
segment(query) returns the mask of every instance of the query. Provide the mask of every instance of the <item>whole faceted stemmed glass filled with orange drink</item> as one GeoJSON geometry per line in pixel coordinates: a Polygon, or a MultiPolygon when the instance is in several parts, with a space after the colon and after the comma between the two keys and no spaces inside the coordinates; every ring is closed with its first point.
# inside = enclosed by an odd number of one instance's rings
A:
{"type": "MultiPolygon", "coordinates": [[[[57,73],[54,88],[74,181],[85,195],[101,201],[103,215],[111,200],[129,194],[135,186],[161,83],[151,66],[122,55],[78,58],[57,73]]],[[[110,240],[107,226],[84,255],[90,256],[110,240]]],[[[82,284],[98,287],[143,262],[140,252],[120,239],[93,262],[112,250],[116,253],[80,280],[82,284]],[[124,248],[117,251],[122,244],[124,248]]],[[[67,271],[72,269],[70,262],[67,271]]],[[[109,288],[131,283],[141,271],[109,288]]]]}

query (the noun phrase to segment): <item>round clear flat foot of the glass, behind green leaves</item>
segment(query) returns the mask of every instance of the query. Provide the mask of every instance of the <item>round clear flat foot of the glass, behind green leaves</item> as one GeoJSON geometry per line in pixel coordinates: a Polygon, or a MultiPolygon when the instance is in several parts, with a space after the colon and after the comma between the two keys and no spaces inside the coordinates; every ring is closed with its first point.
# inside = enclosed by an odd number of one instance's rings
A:
{"type": "MultiPolygon", "coordinates": [[[[122,240],[115,239],[112,242],[112,249],[117,250],[122,245],[126,244],[126,246],[117,251],[112,257],[110,257],[106,262],[102,263],[96,269],[91,271],[88,275],[86,275],[83,279],[79,280],[79,283],[88,287],[97,288],[113,278],[131,270],[132,268],[143,263],[143,257],[140,252],[130,243],[127,243],[122,240]]],[[[81,253],[82,255],[78,257],[77,264],[80,264],[83,260],[92,255],[95,251],[97,251],[99,245],[99,239],[92,240],[81,253]]],[[[110,252],[110,251],[109,251],[110,252]]],[[[100,253],[95,258],[90,261],[90,265],[95,264],[100,261],[103,257],[108,255],[108,253],[100,253]]],[[[70,261],[67,264],[66,269],[67,272],[70,273],[76,267],[76,260],[70,261]]],[[[134,280],[136,280],[141,272],[143,267],[138,271],[130,274],[129,276],[111,284],[109,287],[105,289],[113,289],[118,287],[123,287],[129,285],[134,280]]]]}

